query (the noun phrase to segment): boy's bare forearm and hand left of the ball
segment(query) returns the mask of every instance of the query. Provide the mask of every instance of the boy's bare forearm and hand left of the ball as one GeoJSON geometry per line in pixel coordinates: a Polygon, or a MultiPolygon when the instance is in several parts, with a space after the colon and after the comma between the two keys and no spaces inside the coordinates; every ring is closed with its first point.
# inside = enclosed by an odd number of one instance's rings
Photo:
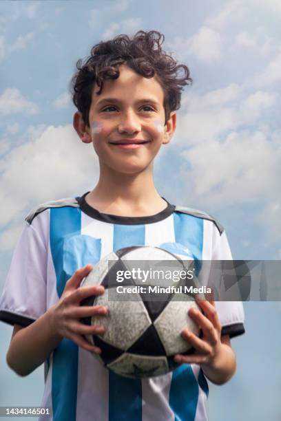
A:
{"type": "Polygon", "coordinates": [[[83,335],[102,334],[105,328],[98,325],[85,326],[79,322],[87,316],[107,313],[106,307],[94,305],[81,307],[80,301],[87,296],[103,294],[101,286],[81,287],[83,278],[92,270],[92,266],[76,270],[65,284],[65,289],[58,303],[48,309],[37,321],[28,327],[14,326],[12,340],[6,356],[7,363],[19,376],[28,376],[50,356],[63,337],[70,338],[77,345],[90,352],[101,349],[90,345],[83,335]]]}

